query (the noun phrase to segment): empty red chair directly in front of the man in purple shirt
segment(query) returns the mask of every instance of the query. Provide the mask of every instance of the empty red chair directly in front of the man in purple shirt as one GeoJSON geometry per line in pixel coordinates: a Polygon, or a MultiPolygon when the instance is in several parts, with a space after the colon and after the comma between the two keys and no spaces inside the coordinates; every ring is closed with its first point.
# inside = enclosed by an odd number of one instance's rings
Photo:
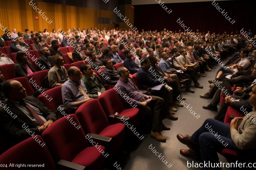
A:
{"type": "MultiPolygon", "coordinates": [[[[130,108],[125,109],[123,102],[117,94],[115,89],[110,89],[102,93],[99,97],[100,104],[105,111],[106,115],[114,115],[116,112],[119,113],[120,116],[129,117],[128,122],[131,125],[136,126],[138,121],[138,108],[130,108]]],[[[110,120],[111,124],[120,123],[122,121],[119,120],[110,120]]]]}

